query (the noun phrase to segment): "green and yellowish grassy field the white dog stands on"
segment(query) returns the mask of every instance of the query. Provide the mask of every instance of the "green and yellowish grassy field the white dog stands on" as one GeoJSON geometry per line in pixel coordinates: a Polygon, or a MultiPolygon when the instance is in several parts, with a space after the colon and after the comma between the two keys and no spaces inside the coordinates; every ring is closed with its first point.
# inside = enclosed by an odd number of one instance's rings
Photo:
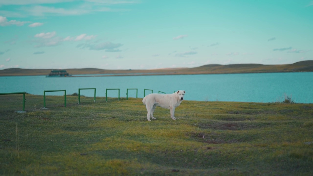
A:
{"type": "Polygon", "coordinates": [[[0,175],[312,175],[313,104],[0,96],[0,175]]]}

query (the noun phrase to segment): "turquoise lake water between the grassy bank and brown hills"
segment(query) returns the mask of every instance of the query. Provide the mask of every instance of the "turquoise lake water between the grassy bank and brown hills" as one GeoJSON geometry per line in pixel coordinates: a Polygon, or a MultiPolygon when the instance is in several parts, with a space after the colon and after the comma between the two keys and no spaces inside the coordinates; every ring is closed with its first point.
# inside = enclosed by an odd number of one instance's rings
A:
{"type": "MultiPolygon", "coordinates": [[[[104,97],[105,89],[120,89],[126,97],[127,88],[137,88],[142,98],[144,89],[173,93],[185,90],[185,100],[277,102],[285,95],[298,103],[313,103],[313,72],[251,73],[217,75],[149,75],[55,77],[0,76],[0,93],[27,92],[43,95],[44,90],[66,90],[78,93],[79,88],[96,88],[96,96],[104,97]]],[[[151,91],[146,91],[146,94],[151,91]]],[[[81,90],[81,95],[94,96],[93,90],[81,90]]],[[[64,95],[64,92],[47,92],[46,95],[64,95]]],[[[129,97],[136,97],[136,90],[129,90],[129,97]]],[[[108,90],[108,97],[118,97],[118,91],[108,90]]]]}

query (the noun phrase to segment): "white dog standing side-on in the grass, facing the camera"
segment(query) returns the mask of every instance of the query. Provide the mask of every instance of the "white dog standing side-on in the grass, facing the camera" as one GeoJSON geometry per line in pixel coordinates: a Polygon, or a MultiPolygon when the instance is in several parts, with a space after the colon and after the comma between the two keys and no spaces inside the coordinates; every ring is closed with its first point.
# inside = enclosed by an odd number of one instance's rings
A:
{"type": "Polygon", "coordinates": [[[175,108],[180,105],[182,100],[184,99],[185,91],[177,91],[172,94],[149,94],[142,99],[144,105],[146,105],[148,114],[147,118],[150,122],[150,117],[152,119],[156,119],[153,117],[153,112],[156,109],[156,106],[160,106],[162,108],[170,109],[171,117],[173,120],[176,120],[174,113],[175,108]]]}

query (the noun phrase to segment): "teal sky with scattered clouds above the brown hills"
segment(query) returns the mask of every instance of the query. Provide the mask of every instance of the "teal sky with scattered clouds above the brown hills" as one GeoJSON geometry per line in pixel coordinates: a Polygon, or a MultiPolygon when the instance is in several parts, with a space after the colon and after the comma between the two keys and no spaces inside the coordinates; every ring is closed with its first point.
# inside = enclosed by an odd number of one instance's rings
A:
{"type": "Polygon", "coordinates": [[[0,0],[0,70],[313,60],[311,0],[0,0]]]}

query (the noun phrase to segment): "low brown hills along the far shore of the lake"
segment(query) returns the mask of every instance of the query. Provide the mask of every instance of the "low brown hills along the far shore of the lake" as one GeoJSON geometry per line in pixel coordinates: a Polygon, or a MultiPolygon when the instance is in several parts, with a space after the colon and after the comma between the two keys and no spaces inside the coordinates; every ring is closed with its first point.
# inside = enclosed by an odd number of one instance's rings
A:
{"type": "MultiPolygon", "coordinates": [[[[52,69],[19,69],[0,70],[0,76],[48,75],[52,69]]],[[[54,69],[58,70],[58,69],[54,69]]],[[[210,64],[194,68],[154,69],[154,70],[102,70],[96,68],[65,69],[71,75],[85,74],[119,74],[119,75],[186,75],[186,74],[225,74],[225,73],[266,73],[266,72],[311,72],[313,60],[285,65],[262,64],[210,64]]]]}

